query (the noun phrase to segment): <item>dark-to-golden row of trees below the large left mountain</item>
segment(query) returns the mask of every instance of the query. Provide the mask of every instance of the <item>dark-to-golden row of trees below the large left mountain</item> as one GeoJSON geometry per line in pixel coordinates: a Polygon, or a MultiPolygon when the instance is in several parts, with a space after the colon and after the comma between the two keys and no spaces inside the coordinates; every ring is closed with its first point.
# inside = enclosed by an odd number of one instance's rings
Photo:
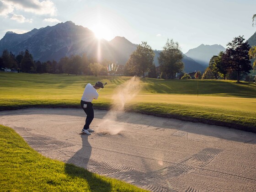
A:
{"type": "MultiPolygon", "coordinates": [[[[84,53],[63,57],[59,62],[48,60],[46,62],[35,61],[28,50],[20,52],[17,56],[8,50],[4,50],[0,57],[0,69],[16,69],[24,73],[51,73],[51,74],[74,74],[74,75],[107,75],[107,65],[112,63],[107,59],[98,62],[96,58],[88,59],[84,53]]],[[[116,73],[123,73],[117,69],[116,73]]]]}

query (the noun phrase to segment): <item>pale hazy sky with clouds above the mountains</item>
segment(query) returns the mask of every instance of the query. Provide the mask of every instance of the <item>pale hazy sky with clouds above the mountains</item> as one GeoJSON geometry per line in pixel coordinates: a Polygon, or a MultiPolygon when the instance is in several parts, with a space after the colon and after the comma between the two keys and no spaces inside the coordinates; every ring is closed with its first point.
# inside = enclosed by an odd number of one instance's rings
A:
{"type": "Polygon", "coordinates": [[[73,21],[106,40],[121,36],[158,50],[173,39],[186,53],[247,40],[256,32],[254,14],[256,0],[0,0],[0,38],[73,21]]]}

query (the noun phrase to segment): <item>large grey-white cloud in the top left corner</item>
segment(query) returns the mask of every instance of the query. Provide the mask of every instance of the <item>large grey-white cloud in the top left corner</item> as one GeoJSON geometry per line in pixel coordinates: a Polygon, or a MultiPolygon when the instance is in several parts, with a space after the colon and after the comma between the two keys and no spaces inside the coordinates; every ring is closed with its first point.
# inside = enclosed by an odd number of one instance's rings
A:
{"type": "MultiPolygon", "coordinates": [[[[36,15],[56,15],[57,9],[51,0],[0,0],[0,13],[7,15],[14,10],[34,13],[36,15]]],[[[3,15],[2,14],[2,15],[3,15]]]]}

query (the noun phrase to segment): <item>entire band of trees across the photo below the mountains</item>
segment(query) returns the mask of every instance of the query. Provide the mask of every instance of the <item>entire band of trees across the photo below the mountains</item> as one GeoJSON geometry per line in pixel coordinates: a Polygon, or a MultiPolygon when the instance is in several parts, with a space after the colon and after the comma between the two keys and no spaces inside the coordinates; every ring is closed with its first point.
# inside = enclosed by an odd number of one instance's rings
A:
{"type": "MultiPolygon", "coordinates": [[[[227,44],[228,48],[219,55],[214,55],[209,62],[208,68],[197,73],[197,78],[202,79],[234,79],[240,81],[242,75],[250,73],[251,69],[256,68],[256,61],[251,66],[250,59],[256,58],[256,46],[250,47],[245,42],[243,36],[235,37],[227,44]]],[[[117,73],[126,76],[143,76],[147,73],[148,77],[157,78],[156,67],[154,64],[155,53],[153,49],[142,42],[137,49],[130,55],[124,69],[119,69],[117,73]]],[[[184,64],[182,62],[182,52],[178,42],[167,39],[163,50],[159,53],[158,61],[160,64],[160,78],[174,79],[176,74],[183,74],[184,64]]],[[[59,62],[52,60],[47,62],[34,61],[33,56],[28,50],[15,56],[13,53],[4,50],[0,57],[0,68],[13,68],[25,73],[55,73],[55,74],[85,74],[85,75],[107,75],[108,65],[114,63],[107,59],[98,62],[95,58],[88,59],[84,53],[63,57],[59,62]]],[[[192,74],[192,75],[195,75],[192,74]]],[[[191,74],[180,76],[181,79],[190,79],[191,74]]]]}

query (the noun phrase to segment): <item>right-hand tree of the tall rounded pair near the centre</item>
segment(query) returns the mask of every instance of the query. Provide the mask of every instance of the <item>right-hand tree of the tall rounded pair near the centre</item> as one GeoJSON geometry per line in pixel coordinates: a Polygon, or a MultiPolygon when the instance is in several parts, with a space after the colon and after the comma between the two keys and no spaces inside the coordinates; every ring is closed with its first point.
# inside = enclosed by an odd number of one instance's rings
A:
{"type": "Polygon", "coordinates": [[[176,73],[182,72],[184,68],[182,58],[179,43],[174,42],[173,39],[170,41],[167,39],[163,51],[160,52],[158,57],[161,72],[165,72],[169,78],[174,79],[176,73]]]}

